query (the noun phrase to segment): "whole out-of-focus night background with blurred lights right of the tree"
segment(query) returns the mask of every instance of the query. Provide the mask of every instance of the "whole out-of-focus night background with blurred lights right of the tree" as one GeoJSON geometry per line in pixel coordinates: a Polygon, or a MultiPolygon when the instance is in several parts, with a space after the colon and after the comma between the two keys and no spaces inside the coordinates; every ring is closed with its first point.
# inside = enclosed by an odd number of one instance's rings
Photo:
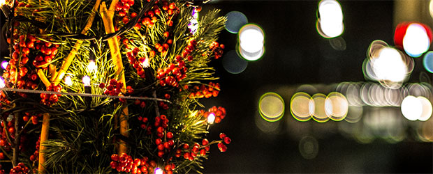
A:
{"type": "Polygon", "coordinates": [[[209,138],[233,142],[204,172],[433,173],[430,4],[207,3],[228,17],[209,138]]]}

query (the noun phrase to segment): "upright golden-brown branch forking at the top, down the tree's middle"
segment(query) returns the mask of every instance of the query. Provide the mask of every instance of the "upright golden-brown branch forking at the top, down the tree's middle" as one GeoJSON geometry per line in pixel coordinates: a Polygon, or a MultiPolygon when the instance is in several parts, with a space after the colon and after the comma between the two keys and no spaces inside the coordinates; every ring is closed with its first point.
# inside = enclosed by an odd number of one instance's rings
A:
{"type": "MultiPolygon", "coordinates": [[[[115,33],[115,26],[113,24],[113,17],[115,16],[115,7],[118,0],[113,0],[111,2],[110,8],[107,9],[107,5],[105,2],[101,3],[101,7],[99,8],[99,14],[101,14],[105,33],[115,33]]],[[[122,55],[120,54],[120,47],[119,47],[119,41],[116,37],[108,39],[108,46],[110,47],[110,54],[112,58],[112,62],[115,64],[115,71],[116,71],[116,77],[118,81],[122,82],[124,84],[122,88],[122,93],[126,92],[126,80],[125,80],[125,74],[124,74],[124,66],[122,63],[122,55]]],[[[122,113],[120,113],[119,116],[119,122],[120,122],[120,134],[123,136],[128,137],[128,107],[125,106],[124,109],[122,109],[122,113]]],[[[117,119],[117,116],[115,116],[115,119],[117,119]]],[[[117,153],[120,155],[122,153],[126,153],[128,151],[128,147],[126,146],[126,143],[122,140],[119,141],[119,148],[117,148],[117,153]]]]}

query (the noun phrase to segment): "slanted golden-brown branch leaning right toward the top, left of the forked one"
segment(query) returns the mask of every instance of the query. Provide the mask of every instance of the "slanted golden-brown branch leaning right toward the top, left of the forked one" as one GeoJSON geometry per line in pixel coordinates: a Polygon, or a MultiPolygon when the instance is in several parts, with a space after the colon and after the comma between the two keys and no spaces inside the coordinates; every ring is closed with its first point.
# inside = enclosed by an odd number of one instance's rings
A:
{"type": "MultiPolygon", "coordinates": [[[[90,29],[90,27],[93,24],[93,21],[95,19],[96,11],[98,10],[100,3],[101,3],[101,0],[96,0],[95,6],[93,8],[93,13],[90,14],[85,28],[82,29],[82,31],[81,31],[82,34],[86,34],[87,31],[89,31],[89,29],[90,29]]],[[[51,81],[54,82],[54,85],[59,84],[61,79],[63,79],[63,77],[65,76],[66,71],[68,70],[69,66],[71,65],[71,63],[73,61],[73,58],[75,58],[75,55],[77,55],[78,50],[80,49],[82,42],[83,42],[82,40],[77,40],[77,42],[75,42],[73,49],[71,50],[71,52],[69,52],[68,56],[66,57],[66,59],[62,63],[59,72],[55,72],[52,75],[51,81]]]]}

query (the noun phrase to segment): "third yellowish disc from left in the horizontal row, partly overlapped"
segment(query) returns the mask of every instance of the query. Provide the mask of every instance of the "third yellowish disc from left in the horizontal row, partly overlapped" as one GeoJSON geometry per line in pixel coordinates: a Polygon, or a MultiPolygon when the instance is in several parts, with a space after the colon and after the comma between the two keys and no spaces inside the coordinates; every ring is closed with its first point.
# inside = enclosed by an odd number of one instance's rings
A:
{"type": "Polygon", "coordinates": [[[322,93],[316,93],[312,97],[312,101],[309,104],[309,111],[311,116],[316,122],[327,122],[330,116],[325,111],[325,100],[326,95],[322,93]]]}

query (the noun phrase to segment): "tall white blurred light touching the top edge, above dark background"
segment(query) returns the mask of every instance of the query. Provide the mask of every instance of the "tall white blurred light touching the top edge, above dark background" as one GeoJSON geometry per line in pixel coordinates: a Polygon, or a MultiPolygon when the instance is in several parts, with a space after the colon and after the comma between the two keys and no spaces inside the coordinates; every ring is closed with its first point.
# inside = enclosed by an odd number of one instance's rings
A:
{"type": "Polygon", "coordinates": [[[318,4],[316,28],[324,38],[335,38],[344,31],[342,6],[335,0],[322,0],[318,4]]]}

